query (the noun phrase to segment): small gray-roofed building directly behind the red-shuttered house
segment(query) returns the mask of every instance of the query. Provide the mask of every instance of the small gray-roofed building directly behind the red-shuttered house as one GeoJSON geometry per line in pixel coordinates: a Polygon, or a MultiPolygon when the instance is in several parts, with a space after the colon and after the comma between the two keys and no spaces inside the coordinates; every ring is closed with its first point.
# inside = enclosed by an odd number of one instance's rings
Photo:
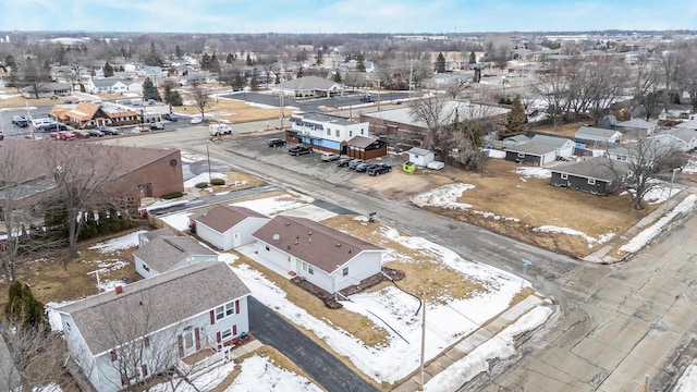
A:
{"type": "Polygon", "coordinates": [[[218,254],[188,236],[159,235],[133,252],[135,271],[146,279],[203,261],[218,261],[218,254]]]}

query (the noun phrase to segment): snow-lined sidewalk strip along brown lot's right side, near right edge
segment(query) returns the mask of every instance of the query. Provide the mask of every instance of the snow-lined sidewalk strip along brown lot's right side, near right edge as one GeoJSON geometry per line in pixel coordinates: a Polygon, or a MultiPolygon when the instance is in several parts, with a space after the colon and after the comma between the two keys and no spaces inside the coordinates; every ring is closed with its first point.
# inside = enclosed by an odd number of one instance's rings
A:
{"type": "MultiPolygon", "coordinates": [[[[584,257],[583,259],[591,262],[600,262],[600,264],[614,264],[622,261],[624,258],[612,257],[609,254],[615,249],[617,246],[621,246],[627,243],[629,240],[641,233],[645,229],[649,228],[651,224],[657,222],[661,217],[665,216],[670,212],[675,206],[677,206],[681,201],[683,201],[690,194],[697,194],[697,188],[695,186],[680,186],[675,187],[675,189],[680,189],[681,192],[665,200],[661,204],[656,210],[651,213],[644,217],[636,224],[634,224],[629,230],[625,231],[619,236],[615,236],[607,243],[603,247],[596,250],[595,253],[584,257]]],[[[663,231],[663,230],[661,230],[663,231]]],[[[650,242],[650,241],[649,241],[650,242]]],[[[629,256],[628,254],[627,256],[629,256]]]]}

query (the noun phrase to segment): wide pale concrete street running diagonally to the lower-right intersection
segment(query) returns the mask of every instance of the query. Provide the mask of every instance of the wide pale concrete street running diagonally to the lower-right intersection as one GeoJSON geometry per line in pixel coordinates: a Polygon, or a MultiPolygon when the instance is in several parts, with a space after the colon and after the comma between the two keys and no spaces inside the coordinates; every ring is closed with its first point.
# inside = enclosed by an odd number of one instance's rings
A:
{"type": "Polygon", "coordinates": [[[694,213],[627,262],[595,265],[407,203],[357,193],[321,170],[295,172],[254,139],[212,144],[207,138],[205,130],[189,128],[114,142],[185,148],[201,155],[208,146],[211,158],[358,213],[376,211],[379,221],[447,246],[463,258],[519,275],[522,259],[531,260],[526,279],[557,301],[562,311],[523,345],[521,356],[499,362],[493,371],[463,391],[639,391],[645,375],[649,376],[649,390],[662,391],[674,375],[671,364],[678,350],[697,333],[692,313],[697,298],[694,213]]]}

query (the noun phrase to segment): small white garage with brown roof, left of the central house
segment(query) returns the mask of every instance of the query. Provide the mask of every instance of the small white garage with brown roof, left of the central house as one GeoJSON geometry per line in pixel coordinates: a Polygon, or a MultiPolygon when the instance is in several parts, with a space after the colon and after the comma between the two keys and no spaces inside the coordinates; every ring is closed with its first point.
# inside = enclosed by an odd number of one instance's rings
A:
{"type": "Polygon", "coordinates": [[[194,231],[212,246],[228,250],[255,241],[252,234],[269,218],[245,207],[219,205],[194,219],[194,231]]]}

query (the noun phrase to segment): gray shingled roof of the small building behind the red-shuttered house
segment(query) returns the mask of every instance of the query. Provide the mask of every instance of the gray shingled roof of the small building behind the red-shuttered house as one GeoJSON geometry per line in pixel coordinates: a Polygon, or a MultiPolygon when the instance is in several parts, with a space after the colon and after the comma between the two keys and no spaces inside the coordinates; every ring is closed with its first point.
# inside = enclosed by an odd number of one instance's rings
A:
{"type": "Polygon", "coordinates": [[[211,256],[212,258],[218,254],[192,237],[159,236],[136,249],[133,255],[161,273],[189,256],[211,256]]]}

